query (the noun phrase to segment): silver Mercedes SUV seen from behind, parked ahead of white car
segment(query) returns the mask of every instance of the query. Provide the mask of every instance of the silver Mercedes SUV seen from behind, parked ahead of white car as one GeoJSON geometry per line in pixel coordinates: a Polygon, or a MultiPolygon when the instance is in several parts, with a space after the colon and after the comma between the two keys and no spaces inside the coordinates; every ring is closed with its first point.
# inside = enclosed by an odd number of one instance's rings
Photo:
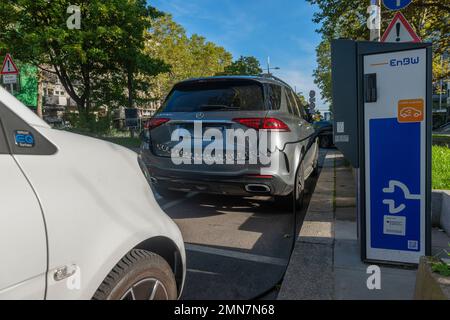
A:
{"type": "MultiPolygon", "coordinates": [[[[148,121],[142,137],[142,159],[155,189],[163,197],[173,191],[197,191],[271,195],[288,203],[288,197],[297,188],[296,200],[301,205],[305,180],[318,166],[317,137],[300,99],[289,85],[272,76],[222,76],[182,81],[173,87],[161,108],[148,121]],[[266,130],[270,135],[268,150],[258,152],[266,151],[276,165],[263,165],[259,161],[233,165],[175,164],[172,149],[179,141],[172,141],[172,134],[183,129],[194,135],[194,123],[200,121],[203,130],[214,128],[224,132],[224,136],[229,129],[266,130]]],[[[201,141],[203,148],[209,143],[211,141],[201,141]]],[[[224,149],[230,148],[223,145],[224,149]]],[[[234,147],[232,152],[238,149],[236,145],[231,147],[234,147]]],[[[243,156],[248,160],[252,145],[247,141],[244,148],[243,156]]]]}

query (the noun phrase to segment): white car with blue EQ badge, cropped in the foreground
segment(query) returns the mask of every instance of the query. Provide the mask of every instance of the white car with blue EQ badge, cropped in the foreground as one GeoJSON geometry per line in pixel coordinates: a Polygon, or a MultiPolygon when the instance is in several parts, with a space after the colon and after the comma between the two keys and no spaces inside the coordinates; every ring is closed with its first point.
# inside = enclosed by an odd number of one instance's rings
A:
{"type": "Polygon", "coordinates": [[[179,297],[183,239],[143,170],[0,87],[0,299],[179,297]]]}

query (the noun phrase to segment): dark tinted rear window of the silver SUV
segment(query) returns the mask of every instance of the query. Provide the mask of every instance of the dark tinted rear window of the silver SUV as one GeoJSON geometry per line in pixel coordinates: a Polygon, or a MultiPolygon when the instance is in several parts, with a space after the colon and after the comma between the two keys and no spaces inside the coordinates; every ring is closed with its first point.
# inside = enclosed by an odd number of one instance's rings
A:
{"type": "Polygon", "coordinates": [[[253,81],[210,81],[175,86],[162,112],[265,110],[262,85],[253,81]]]}

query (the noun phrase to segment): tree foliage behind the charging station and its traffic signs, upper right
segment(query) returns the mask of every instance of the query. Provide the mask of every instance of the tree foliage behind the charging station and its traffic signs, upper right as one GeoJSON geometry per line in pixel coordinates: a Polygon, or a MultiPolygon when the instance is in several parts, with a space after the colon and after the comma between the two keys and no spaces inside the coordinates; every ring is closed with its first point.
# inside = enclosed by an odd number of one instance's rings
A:
{"type": "MultiPolygon", "coordinates": [[[[315,83],[321,89],[324,100],[331,102],[331,56],[330,41],[337,38],[368,40],[367,7],[369,1],[354,0],[308,0],[317,5],[313,21],[320,25],[317,32],[322,41],[317,47],[317,69],[315,83]]],[[[442,0],[415,0],[402,10],[423,41],[433,42],[433,78],[450,76],[448,60],[441,66],[441,56],[449,51],[450,5],[442,0]]],[[[386,30],[395,12],[383,9],[382,30],[386,30]]]]}

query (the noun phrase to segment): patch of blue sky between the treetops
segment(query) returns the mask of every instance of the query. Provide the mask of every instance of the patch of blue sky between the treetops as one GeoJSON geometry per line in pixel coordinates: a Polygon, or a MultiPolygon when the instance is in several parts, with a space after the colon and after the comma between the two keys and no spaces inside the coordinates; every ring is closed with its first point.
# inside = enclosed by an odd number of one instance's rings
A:
{"type": "MultiPolygon", "coordinates": [[[[312,22],[317,8],[304,0],[153,0],[173,15],[188,35],[197,33],[225,47],[236,59],[255,56],[263,67],[270,56],[273,73],[308,96],[313,82],[315,47],[320,35],[312,22]]],[[[328,109],[320,99],[319,109],[328,109]]]]}

